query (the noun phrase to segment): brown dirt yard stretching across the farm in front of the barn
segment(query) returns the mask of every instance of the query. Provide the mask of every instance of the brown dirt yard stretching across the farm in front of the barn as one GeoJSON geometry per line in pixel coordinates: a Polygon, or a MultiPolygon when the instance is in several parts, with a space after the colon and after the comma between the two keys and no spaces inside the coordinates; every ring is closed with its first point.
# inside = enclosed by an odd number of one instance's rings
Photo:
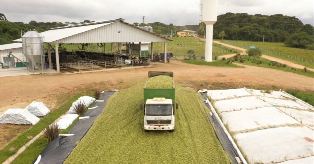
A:
{"type": "MultiPolygon", "coordinates": [[[[171,60],[156,67],[125,69],[83,74],[40,74],[0,77],[0,115],[9,107],[24,108],[31,101],[41,101],[55,110],[75,93],[92,89],[114,90],[145,82],[148,71],[173,71],[176,84],[198,89],[314,90],[313,78],[280,70],[247,66],[246,68],[209,67],[171,60]]],[[[0,125],[0,149],[29,126],[0,125]],[[13,129],[13,130],[10,130],[13,129]],[[19,129],[19,130],[18,130],[19,129]]]]}

